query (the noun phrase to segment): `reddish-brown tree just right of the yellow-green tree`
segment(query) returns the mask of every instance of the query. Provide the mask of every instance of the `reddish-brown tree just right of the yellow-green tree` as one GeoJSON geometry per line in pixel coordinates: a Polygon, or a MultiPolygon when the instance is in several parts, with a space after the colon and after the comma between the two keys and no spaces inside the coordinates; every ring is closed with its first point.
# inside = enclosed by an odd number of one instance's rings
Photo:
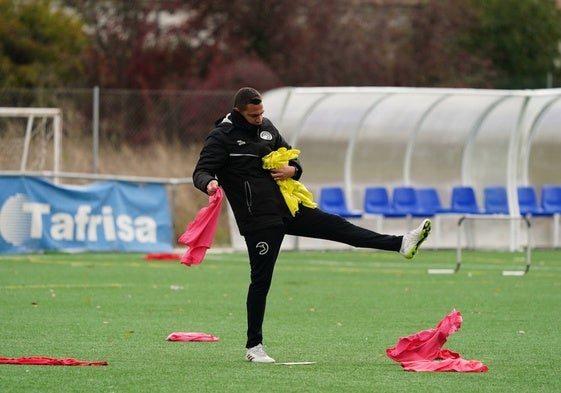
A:
{"type": "Polygon", "coordinates": [[[157,14],[172,7],[173,2],[168,5],[150,1],[66,0],[64,3],[83,16],[89,31],[90,46],[83,59],[88,85],[160,87],[173,53],[161,42],[157,14]]]}

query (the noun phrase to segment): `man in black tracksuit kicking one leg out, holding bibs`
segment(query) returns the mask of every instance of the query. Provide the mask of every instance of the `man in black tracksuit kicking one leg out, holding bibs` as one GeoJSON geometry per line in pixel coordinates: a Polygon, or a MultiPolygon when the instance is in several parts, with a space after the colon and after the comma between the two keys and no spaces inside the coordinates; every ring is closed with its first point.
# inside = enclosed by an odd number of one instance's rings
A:
{"type": "Polygon", "coordinates": [[[361,228],[304,204],[298,205],[293,215],[277,181],[298,180],[302,166],[296,158],[277,169],[263,168],[263,157],[279,148],[291,148],[263,113],[259,92],[250,87],[240,89],[234,97],[233,110],[208,134],[193,181],[208,195],[222,187],[230,202],[245,238],[251,268],[246,359],[273,363],[274,359],[263,350],[262,325],[275,262],[286,234],[396,251],[410,259],[428,237],[431,222],[426,219],[406,235],[393,236],[361,228]]]}

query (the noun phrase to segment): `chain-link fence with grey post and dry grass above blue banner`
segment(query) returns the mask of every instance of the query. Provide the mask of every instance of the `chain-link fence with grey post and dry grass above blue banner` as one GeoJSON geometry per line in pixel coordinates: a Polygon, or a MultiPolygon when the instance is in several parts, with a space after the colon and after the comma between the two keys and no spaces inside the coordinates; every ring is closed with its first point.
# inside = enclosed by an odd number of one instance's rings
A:
{"type": "MultiPolygon", "coordinates": [[[[0,107],[62,110],[61,172],[189,178],[206,134],[231,110],[234,93],[3,89],[0,107]]],[[[0,172],[20,170],[27,121],[0,119],[0,172]]],[[[51,128],[41,119],[33,123],[27,171],[53,169],[51,128]]],[[[185,183],[172,191],[175,233],[180,234],[208,198],[185,183]]],[[[226,214],[222,217],[225,221],[226,214]]],[[[216,243],[227,244],[228,239],[224,223],[216,243]]]]}

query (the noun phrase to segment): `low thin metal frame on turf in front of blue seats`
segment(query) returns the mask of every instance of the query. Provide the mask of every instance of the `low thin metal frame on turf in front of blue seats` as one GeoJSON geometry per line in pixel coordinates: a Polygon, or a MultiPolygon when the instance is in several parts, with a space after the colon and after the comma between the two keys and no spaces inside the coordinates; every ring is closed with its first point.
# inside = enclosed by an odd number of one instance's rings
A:
{"type": "Polygon", "coordinates": [[[456,267],[454,269],[428,269],[428,274],[454,274],[460,271],[462,265],[462,224],[469,220],[507,220],[526,222],[528,234],[528,245],[526,246],[526,266],[524,270],[503,270],[503,276],[524,276],[530,271],[532,264],[532,224],[528,216],[507,216],[507,215],[485,215],[485,214],[466,214],[458,220],[458,242],[456,247],[456,267]]]}

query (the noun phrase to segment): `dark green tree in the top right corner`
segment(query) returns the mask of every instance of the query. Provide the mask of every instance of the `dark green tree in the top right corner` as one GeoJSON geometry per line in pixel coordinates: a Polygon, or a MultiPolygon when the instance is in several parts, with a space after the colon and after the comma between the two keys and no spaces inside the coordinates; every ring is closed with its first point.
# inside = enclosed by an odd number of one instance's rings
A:
{"type": "Polygon", "coordinates": [[[472,0],[478,23],[466,48],[489,59],[496,87],[544,87],[559,68],[561,10],[555,0],[472,0]]]}

